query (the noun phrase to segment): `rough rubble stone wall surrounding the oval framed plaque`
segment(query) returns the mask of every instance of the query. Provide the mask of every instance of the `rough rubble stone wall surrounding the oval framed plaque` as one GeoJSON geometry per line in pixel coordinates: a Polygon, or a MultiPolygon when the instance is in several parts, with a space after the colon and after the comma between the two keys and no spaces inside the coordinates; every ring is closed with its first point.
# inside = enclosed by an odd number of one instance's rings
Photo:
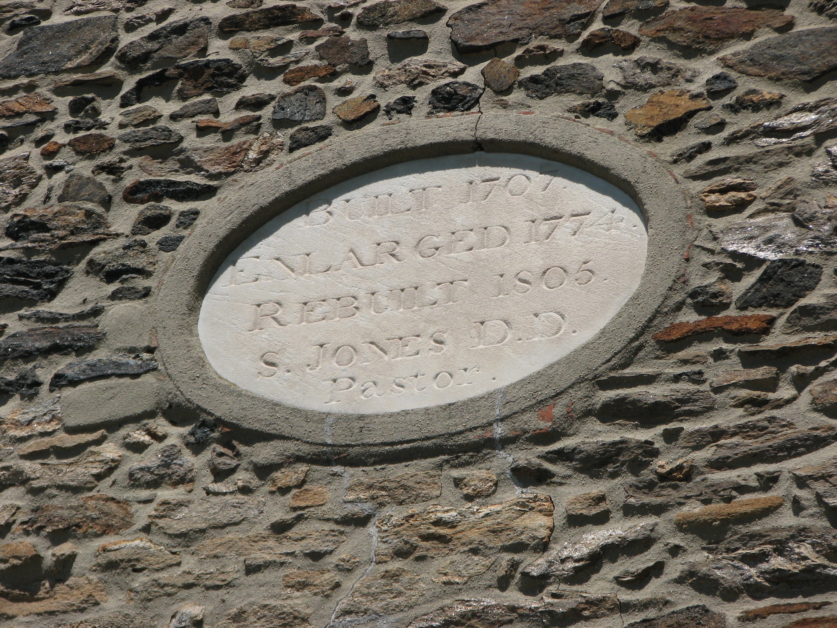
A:
{"type": "Polygon", "coordinates": [[[0,4],[0,625],[837,625],[837,5],[720,4],[0,4]],[[126,321],[225,190],[489,112],[691,191],[597,378],[448,447],[148,402],[126,321]]]}

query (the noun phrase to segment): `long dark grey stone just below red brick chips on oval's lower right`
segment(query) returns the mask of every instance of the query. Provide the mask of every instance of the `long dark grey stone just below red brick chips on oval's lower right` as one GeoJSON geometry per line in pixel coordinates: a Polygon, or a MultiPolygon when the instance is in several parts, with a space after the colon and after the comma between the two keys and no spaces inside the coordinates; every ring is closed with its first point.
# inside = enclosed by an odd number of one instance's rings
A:
{"type": "Polygon", "coordinates": [[[660,456],[653,440],[623,438],[563,445],[542,454],[548,462],[566,462],[593,477],[615,477],[623,471],[639,473],[660,456]]]}

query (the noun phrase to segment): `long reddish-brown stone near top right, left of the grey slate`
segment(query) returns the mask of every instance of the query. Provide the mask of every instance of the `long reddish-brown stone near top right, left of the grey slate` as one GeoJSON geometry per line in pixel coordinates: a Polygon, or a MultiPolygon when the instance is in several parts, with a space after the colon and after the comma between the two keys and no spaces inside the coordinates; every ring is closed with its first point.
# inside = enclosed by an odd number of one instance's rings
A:
{"type": "Polygon", "coordinates": [[[686,7],[645,22],[639,34],[686,48],[708,50],[751,35],[759,28],[775,30],[792,25],[793,16],[776,9],[686,7]]]}

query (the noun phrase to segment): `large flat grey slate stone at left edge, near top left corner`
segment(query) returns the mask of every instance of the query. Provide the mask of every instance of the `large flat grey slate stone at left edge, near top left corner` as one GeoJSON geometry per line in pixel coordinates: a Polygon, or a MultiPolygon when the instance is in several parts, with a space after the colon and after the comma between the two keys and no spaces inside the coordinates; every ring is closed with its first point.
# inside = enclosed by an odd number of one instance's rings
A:
{"type": "Polygon", "coordinates": [[[115,15],[33,26],[23,31],[14,52],[0,61],[0,78],[83,68],[106,59],[118,43],[115,15]]]}

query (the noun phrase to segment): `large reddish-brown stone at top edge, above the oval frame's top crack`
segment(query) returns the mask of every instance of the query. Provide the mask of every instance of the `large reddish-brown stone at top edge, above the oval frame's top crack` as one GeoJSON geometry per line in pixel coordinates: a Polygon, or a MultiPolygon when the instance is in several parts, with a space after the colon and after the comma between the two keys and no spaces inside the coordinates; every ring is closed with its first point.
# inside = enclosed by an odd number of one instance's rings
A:
{"type": "Polygon", "coordinates": [[[581,33],[603,0],[488,0],[448,19],[450,39],[460,53],[496,48],[506,42],[550,39],[581,33]]]}

